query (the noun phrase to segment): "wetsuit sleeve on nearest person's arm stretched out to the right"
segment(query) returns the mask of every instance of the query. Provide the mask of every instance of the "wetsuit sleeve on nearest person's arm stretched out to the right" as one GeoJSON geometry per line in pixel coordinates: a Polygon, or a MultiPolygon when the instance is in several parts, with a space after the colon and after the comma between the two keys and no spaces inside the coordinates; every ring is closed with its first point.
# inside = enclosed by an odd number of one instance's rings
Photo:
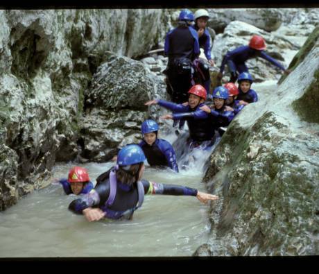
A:
{"type": "Polygon", "coordinates": [[[147,180],[141,181],[146,195],[173,195],[173,196],[196,196],[198,190],[182,185],[166,185],[147,180]]]}

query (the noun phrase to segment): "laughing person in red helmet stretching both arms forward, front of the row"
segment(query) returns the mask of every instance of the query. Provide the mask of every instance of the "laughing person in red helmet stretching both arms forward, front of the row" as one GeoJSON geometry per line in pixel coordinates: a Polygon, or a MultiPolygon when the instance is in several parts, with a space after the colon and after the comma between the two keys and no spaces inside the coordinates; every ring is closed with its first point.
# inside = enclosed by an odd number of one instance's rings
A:
{"type": "Polygon", "coordinates": [[[161,105],[173,112],[173,114],[166,114],[162,119],[184,119],[187,121],[189,127],[189,139],[187,144],[190,147],[196,147],[207,142],[207,146],[212,145],[212,139],[215,135],[214,130],[210,127],[209,115],[200,110],[207,98],[205,87],[202,85],[193,85],[189,89],[188,104],[175,104],[164,100],[152,100],[145,103],[145,105],[161,105]]]}

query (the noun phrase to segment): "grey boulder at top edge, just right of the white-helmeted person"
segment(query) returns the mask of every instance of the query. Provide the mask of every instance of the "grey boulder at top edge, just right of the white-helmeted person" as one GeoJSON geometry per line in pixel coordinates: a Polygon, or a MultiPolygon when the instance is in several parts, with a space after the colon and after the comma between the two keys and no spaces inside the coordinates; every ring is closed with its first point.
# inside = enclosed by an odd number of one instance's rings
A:
{"type": "Polygon", "coordinates": [[[276,31],[282,24],[282,14],[277,8],[215,8],[208,9],[208,26],[223,33],[232,21],[241,21],[264,31],[276,31]]]}

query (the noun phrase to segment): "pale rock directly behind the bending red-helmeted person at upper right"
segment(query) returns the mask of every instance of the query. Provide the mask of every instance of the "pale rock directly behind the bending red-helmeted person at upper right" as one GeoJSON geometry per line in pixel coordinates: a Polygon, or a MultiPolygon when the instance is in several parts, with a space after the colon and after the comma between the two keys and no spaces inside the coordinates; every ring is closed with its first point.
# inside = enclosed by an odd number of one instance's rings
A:
{"type": "MultiPolygon", "coordinates": [[[[285,60],[285,52],[299,49],[298,44],[294,44],[284,36],[268,33],[244,22],[233,21],[227,25],[223,34],[218,34],[215,37],[212,53],[214,54],[216,65],[218,67],[221,66],[223,56],[227,51],[232,51],[238,46],[248,45],[252,35],[264,37],[267,45],[266,53],[281,62],[284,67],[288,67],[288,63],[285,60]]],[[[262,58],[250,59],[246,62],[246,65],[255,82],[261,82],[265,79],[279,79],[280,74],[282,74],[280,69],[262,58]]],[[[227,74],[227,71],[226,65],[225,74],[227,74]]]]}

